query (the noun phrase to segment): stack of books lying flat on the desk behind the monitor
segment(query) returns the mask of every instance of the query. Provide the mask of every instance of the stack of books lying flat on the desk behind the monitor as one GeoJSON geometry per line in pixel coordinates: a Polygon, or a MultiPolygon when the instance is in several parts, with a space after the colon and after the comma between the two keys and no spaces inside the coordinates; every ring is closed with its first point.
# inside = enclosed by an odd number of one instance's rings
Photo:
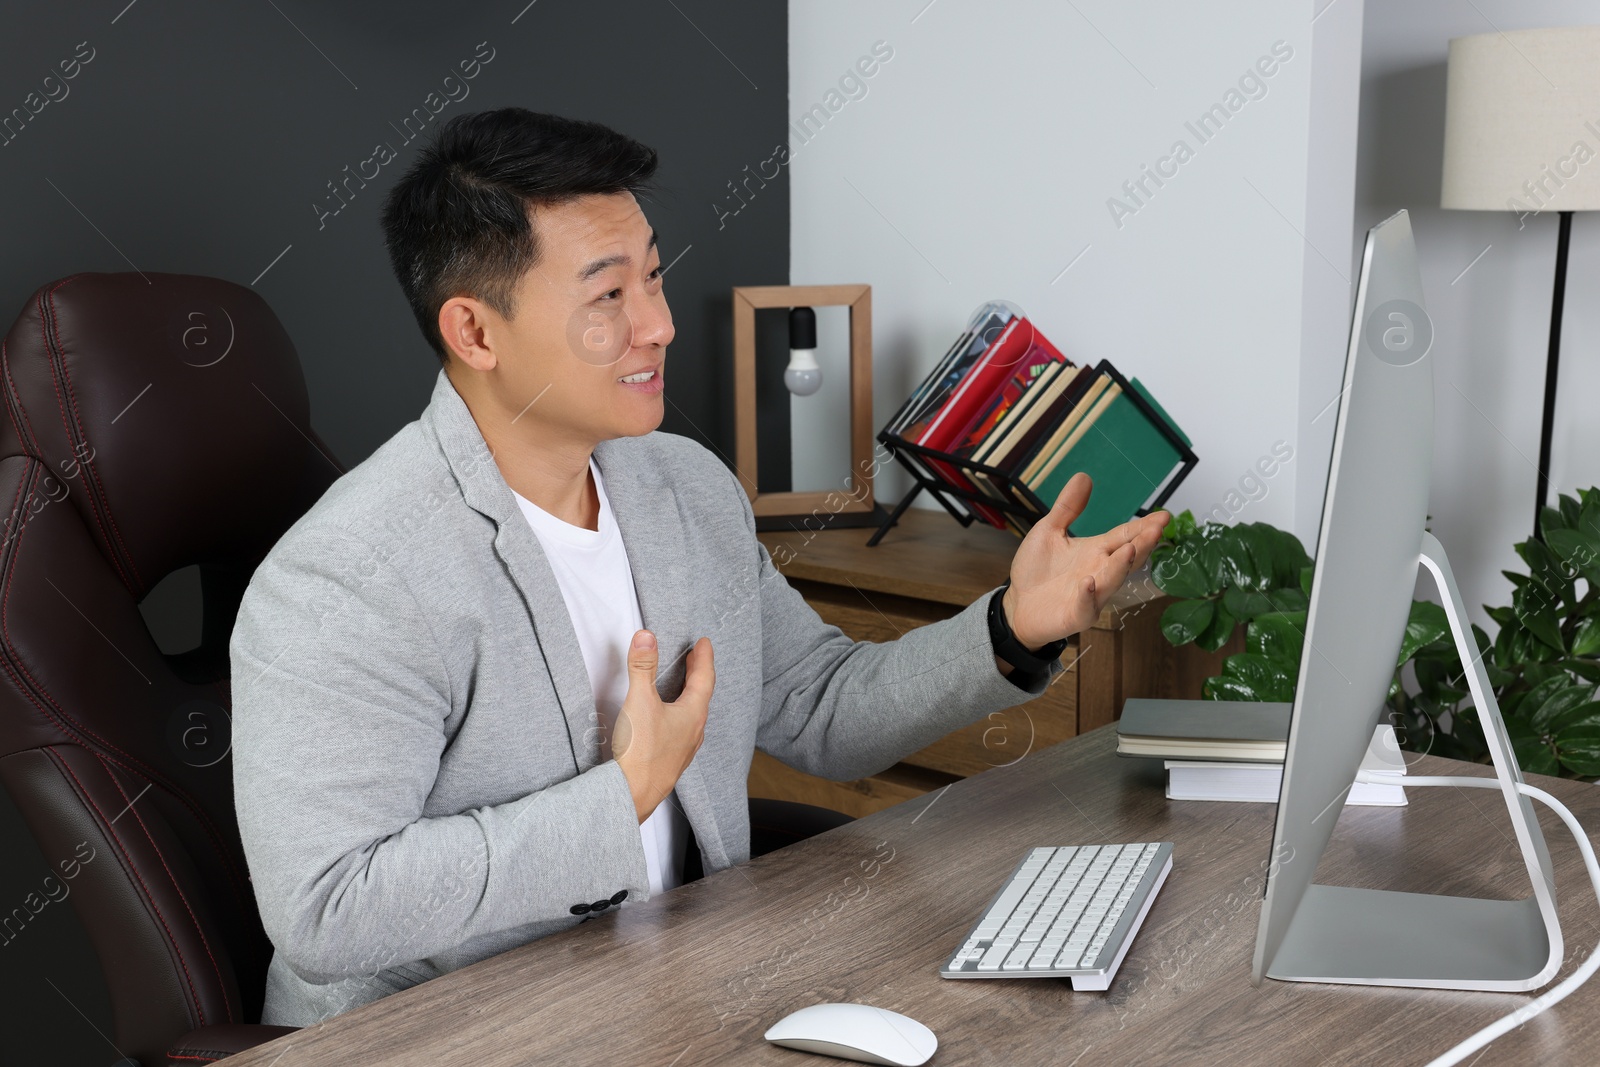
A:
{"type": "MultiPolygon", "coordinates": [[[[1163,760],[1168,800],[1277,803],[1291,712],[1293,704],[1130,699],[1117,723],[1117,755],[1163,760]]],[[[1394,726],[1373,731],[1360,769],[1392,776],[1394,784],[1355,782],[1346,805],[1406,803],[1394,726]]]]}

